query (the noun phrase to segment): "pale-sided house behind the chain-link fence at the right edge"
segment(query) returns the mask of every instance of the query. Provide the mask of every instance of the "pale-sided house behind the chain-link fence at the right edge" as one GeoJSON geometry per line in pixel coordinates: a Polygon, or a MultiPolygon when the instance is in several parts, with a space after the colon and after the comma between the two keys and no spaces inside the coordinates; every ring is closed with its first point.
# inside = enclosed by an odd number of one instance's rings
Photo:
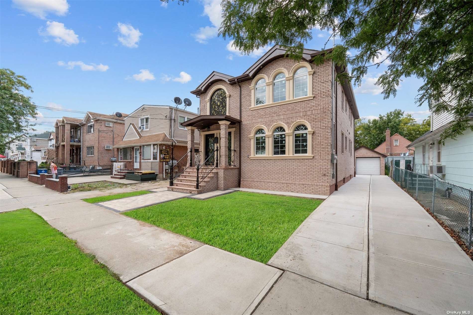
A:
{"type": "MultiPolygon", "coordinates": [[[[471,125],[473,112],[467,118],[471,125]]],[[[473,132],[466,129],[456,140],[446,139],[445,145],[439,141],[452,120],[452,114],[434,114],[431,110],[430,130],[409,145],[415,148],[414,171],[473,189],[473,132]]]]}

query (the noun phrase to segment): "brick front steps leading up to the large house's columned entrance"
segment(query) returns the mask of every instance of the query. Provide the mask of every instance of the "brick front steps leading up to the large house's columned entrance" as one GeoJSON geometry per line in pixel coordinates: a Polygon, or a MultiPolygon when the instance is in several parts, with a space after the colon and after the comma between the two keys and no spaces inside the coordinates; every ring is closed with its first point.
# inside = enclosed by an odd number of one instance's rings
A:
{"type": "Polygon", "coordinates": [[[211,171],[210,174],[207,175],[207,177],[199,184],[199,189],[196,189],[197,170],[195,167],[189,167],[174,180],[173,186],[167,186],[167,190],[192,194],[208,193],[217,190],[217,177],[218,173],[215,170],[211,171]]]}

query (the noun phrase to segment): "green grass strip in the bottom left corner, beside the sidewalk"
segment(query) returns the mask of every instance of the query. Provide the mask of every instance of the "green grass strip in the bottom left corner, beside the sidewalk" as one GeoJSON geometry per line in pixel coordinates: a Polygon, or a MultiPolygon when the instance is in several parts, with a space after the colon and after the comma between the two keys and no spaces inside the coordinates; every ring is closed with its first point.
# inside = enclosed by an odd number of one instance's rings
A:
{"type": "Polygon", "coordinates": [[[0,214],[0,314],[158,314],[29,209],[0,214]]]}

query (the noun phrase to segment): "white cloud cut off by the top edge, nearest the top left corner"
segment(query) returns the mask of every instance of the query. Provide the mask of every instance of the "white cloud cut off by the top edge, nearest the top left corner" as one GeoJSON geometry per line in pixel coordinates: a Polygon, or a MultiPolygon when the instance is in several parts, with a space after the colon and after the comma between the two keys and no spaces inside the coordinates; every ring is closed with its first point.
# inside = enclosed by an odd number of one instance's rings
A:
{"type": "Polygon", "coordinates": [[[66,0],[13,0],[13,6],[42,19],[48,13],[64,16],[69,10],[66,0]]]}

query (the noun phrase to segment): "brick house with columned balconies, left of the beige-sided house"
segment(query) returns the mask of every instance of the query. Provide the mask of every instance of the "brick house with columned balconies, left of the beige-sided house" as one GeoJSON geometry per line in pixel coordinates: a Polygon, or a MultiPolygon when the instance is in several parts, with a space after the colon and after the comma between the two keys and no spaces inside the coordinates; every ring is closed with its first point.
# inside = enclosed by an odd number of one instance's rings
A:
{"type": "Polygon", "coordinates": [[[62,117],[55,127],[55,156],[61,165],[109,168],[113,145],[124,133],[124,117],[87,112],[83,119],[62,117]]]}

